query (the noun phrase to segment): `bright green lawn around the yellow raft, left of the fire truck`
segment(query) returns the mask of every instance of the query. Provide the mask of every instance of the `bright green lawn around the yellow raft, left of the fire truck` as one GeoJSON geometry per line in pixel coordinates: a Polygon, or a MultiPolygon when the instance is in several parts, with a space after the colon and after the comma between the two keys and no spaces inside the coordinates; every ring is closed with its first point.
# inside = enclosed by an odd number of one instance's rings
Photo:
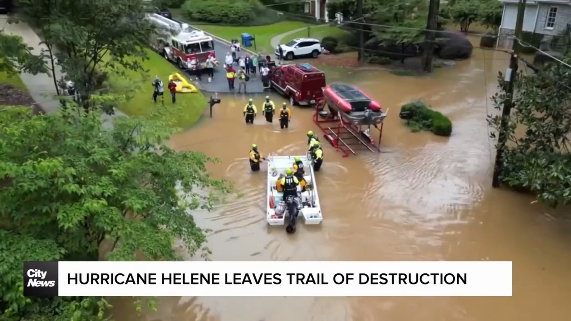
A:
{"type": "MultiPolygon", "coordinates": [[[[168,108],[172,105],[171,97],[167,89],[168,75],[174,73],[182,74],[182,71],[154,51],[148,50],[148,57],[150,59],[142,63],[144,69],[148,70],[148,73],[141,74],[135,71],[126,71],[126,77],[120,76],[117,73],[109,75],[108,81],[116,90],[134,91],[132,98],[119,106],[119,110],[127,115],[147,115],[149,111],[162,107],[159,103],[160,98],[156,104],[152,101],[153,87],[151,83],[156,75],[158,75],[164,83],[164,106],[168,108]]],[[[176,105],[182,107],[182,113],[176,118],[176,122],[173,126],[186,129],[198,121],[202,112],[207,107],[207,100],[201,93],[176,94],[176,105]]]]}

